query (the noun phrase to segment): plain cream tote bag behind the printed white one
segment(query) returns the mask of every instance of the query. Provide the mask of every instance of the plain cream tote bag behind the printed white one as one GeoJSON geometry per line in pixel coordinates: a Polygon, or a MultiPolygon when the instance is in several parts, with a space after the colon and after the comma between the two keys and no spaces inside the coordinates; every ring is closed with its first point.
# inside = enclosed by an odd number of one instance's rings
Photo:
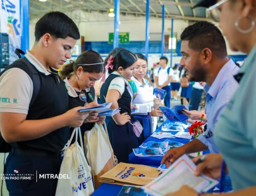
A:
{"type": "Polygon", "coordinates": [[[101,184],[99,177],[117,164],[106,125],[104,130],[102,124],[95,123],[94,127],[84,134],[84,149],[93,170],[95,188],[98,188],[101,184]]]}

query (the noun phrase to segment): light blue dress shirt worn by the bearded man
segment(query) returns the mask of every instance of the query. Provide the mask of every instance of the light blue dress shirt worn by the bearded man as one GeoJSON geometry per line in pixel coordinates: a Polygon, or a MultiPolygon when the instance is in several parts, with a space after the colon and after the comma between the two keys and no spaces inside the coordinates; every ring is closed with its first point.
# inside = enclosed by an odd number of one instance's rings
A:
{"type": "Polygon", "coordinates": [[[238,82],[233,77],[238,71],[239,67],[230,59],[224,64],[212,85],[208,86],[206,84],[204,88],[206,92],[207,130],[204,135],[200,135],[197,139],[208,147],[210,153],[219,153],[212,137],[214,135],[214,127],[221,111],[238,88],[238,82]]]}

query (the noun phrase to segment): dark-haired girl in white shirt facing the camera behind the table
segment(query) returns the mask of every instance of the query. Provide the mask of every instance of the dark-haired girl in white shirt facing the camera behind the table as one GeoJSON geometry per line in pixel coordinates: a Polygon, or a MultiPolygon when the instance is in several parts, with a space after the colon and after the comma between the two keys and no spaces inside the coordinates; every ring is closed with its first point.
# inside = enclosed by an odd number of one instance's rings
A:
{"type": "MultiPolygon", "coordinates": [[[[137,87],[137,94],[133,100],[133,105],[149,104],[153,108],[153,110],[150,112],[150,116],[140,116],[141,118],[143,118],[143,120],[144,118],[146,118],[147,121],[150,121],[149,124],[151,127],[149,127],[149,130],[152,130],[152,132],[154,132],[154,130],[157,127],[157,116],[162,116],[163,114],[161,110],[158,108],[158,106],[154,104],[154,86],[152,86],[150,82],[147,79],[145,79],[145,75],[147,73],[147,59],[143,54],[136,53],[135,55],[137,56],[138,60],[135,63],[136,65],[131,79],[135,82],[135,85],[137,87]],[[153,124],[151,116],[153,117],[153,124]]],[[[143,132],[144,131],[145,127],[143,132]]],[[[151,133],[148,133],[147,135],[144,134],[144,138],[142,138],[141,142],[143,142],[146,139],[146,137],[150,136],[150,134],[151,133]]]]}

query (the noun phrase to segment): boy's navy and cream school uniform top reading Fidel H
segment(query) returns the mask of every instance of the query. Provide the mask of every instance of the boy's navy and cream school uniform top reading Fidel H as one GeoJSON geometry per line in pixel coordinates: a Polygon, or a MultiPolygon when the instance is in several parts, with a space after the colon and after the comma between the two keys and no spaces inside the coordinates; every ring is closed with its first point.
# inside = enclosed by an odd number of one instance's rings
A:
{"type": "MultiPolygon", "coordinates": [[[[26,120],[46,119],[67,112],[68,94],[57,71],[51,68],[51,72],[46,70],[29,51],[25,58],[38,71],[40,77],[38,96],[29,108],[33,93],[31,78],[22,69],[9,69],[0,77],[0,112],[25,114],[26,120]]],[[[56,152],[65,146],[68,139],[69,127],[62,127],[44,137],[14,142],[11,145],[16,148],[37,148],[56,152]]]]}

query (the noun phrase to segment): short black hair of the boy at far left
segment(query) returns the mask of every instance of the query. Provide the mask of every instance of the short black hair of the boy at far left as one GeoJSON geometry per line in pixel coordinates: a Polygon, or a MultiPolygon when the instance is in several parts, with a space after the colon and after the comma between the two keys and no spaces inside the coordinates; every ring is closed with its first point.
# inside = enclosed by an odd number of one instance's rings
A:
{"type": "Polygon", "coordinates": [[[66,14],[58,11],[48,12],[42,16],[35,25],[35,41],[46,33],[49,33],[54,38],[74,39],[80,38],[79,30],[74,21],[66,14]]]}

